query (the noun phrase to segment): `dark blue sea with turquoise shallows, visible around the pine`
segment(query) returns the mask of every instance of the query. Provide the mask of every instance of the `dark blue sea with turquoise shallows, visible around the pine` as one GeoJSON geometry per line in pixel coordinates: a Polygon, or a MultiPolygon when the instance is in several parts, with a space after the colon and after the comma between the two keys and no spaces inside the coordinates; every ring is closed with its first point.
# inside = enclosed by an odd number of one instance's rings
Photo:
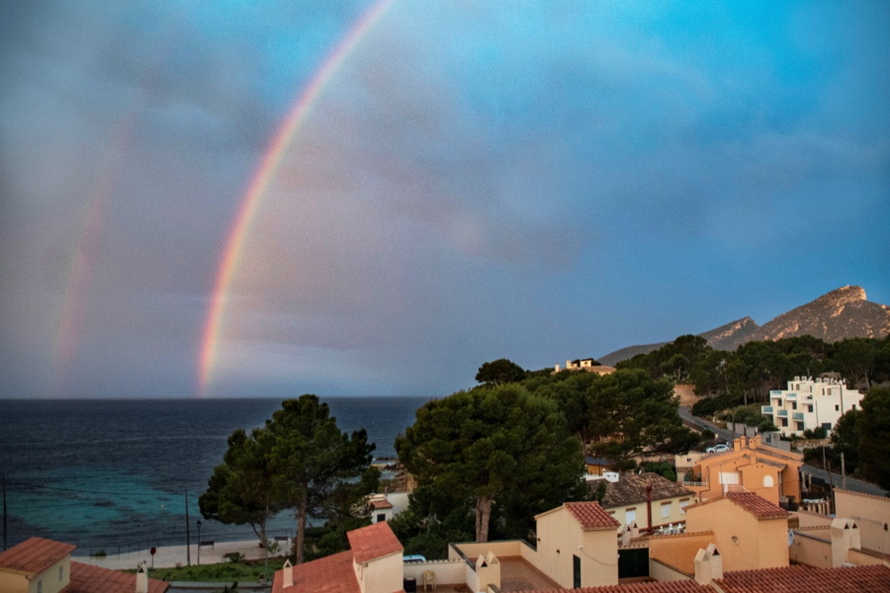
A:
{"type": "MultiPolygon", "coordinates": [[[[340,429],[366,429],[376,461],[430,397],[322,398],[340,429]]],[[[75,556],[254,539],[249,525],[201,517],[198,496],[235,429],[263,426],[280,399],[0,400],[4,542],[39,536],[75,556]],[[198,525],[200,522],[200,525],[198,525]]],[[[269,537],[295,532],[279,514],[269,537]]]]}

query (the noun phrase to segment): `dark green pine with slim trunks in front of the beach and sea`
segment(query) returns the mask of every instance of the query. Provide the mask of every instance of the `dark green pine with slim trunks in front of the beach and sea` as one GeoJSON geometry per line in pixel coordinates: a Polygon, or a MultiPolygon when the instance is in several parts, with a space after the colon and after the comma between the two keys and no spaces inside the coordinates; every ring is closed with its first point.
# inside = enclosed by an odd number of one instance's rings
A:
{"type": "Polygon", "coordinates": [[[370,465],[373,450],[364,429],[346,435],[318,397],[289,399],[250,437],[243,429],[232,433],[198,505],[208,519],[252,525],[263,543],[268,519],[295,509],[295,557],[302,563],[310,518],[328,519],[335,527],[360,526],[356,510],[365,507],[357,503],[375,492],[380,477],[370,465]]]}

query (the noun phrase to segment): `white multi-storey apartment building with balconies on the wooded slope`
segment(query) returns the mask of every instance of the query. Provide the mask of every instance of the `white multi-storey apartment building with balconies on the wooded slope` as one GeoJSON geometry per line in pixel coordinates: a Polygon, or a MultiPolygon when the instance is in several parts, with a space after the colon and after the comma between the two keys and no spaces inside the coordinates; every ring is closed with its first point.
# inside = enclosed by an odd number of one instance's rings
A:
{"type": "Polygon", "coordinates": [[[788,389],[770,391],[770,405],[760,408],[781,433],[790,436],[819,427],[831,431],[841,415],[859,407],[862,394],[846,389],[843,379],[795,377],[788,389]]]}

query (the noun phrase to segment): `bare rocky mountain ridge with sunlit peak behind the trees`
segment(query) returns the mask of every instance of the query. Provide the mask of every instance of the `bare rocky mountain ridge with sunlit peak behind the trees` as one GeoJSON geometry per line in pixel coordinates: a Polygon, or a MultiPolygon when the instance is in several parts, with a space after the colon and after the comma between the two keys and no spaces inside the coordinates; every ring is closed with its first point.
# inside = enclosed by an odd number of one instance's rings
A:
{"type": "MultiPolygon", "coordinates": [[[[734,350],[748,341],[779,340],[805,334],[832,342],[844,338],[883,338],[887,333],[890,333],[890,307],[867,301],[862,286],[842,286],[782,313],[764,325],[744,317],[699,335],[712,348],[734,350]]],[[[628,346],[597,357],[597,360],[603,365],[614,365],[667,343],[628,346]]]]}

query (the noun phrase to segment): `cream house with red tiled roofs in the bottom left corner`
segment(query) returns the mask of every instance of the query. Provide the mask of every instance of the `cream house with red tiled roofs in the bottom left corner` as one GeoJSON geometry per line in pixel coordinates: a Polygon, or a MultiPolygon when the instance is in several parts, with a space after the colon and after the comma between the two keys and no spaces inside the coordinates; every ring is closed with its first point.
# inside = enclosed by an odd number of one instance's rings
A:
{"type": "Polygon", "coordinates": [[[169,583],[144,570],[121,573],[71,560],[77,546],[32,537],[0,553],[2,593],[164,593],[169,583]]]}

